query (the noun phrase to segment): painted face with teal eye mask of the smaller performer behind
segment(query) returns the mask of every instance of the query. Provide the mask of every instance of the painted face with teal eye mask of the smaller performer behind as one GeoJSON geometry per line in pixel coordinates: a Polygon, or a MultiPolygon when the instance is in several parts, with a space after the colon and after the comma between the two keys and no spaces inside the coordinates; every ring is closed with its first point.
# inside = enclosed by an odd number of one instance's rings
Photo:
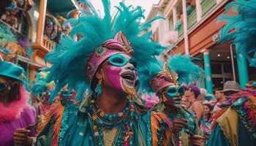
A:
{"type": "Polygon", "coordinates": [[[181,98],[184,95],[184,88],[179,85],[170,85],[165,88],[162,93],[164,94],[164,98],[171,99],[171,101],[173,101],[177,107],[181,105],[181,98]]]}

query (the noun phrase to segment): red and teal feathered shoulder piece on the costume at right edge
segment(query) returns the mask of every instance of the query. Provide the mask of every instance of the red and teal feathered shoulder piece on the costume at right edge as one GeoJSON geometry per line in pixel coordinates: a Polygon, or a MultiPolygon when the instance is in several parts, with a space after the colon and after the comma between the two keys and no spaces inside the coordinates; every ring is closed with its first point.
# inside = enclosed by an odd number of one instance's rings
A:
{"type": "Polygon", "coordinates": [[[236,110],[244,126],[252,134],[252,137],[256,138],[256,90],[240,91],[233,94],[219,107],[222,107],[223,110],[214,115],[213,128],[216,125],[216,120],[230,107],[236,110]]]}

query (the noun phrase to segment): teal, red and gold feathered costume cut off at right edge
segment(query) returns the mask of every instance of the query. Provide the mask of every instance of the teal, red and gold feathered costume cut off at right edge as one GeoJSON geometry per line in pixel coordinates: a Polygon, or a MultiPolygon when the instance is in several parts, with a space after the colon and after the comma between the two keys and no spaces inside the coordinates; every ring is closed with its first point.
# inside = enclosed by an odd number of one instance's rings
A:
{"type": "Polygon", "coordinates": [[[214,115],[207,145],[256,145],[256,91],[241,91],[214,115]]]}

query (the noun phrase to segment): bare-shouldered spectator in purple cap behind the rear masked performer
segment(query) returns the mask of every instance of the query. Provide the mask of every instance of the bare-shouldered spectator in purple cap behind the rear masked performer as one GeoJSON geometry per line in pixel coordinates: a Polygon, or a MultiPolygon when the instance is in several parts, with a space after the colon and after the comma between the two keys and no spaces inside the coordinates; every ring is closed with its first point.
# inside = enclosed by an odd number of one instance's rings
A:
{"type": "Polygon", "coordinates": [[[184,96],[189,100],[187,110],[195,112],[198,123],[200,123],[200,119],[203,117],[203,104],[197,100],[199,94],[200,89],[195,84],[190,84],[184,93],[184,96]]]}

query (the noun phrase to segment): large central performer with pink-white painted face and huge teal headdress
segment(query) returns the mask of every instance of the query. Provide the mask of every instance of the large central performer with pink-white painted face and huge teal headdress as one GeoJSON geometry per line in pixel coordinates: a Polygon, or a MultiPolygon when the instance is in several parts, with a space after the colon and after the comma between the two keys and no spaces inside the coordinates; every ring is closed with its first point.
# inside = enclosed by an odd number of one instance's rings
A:
{"type": "Polygon", "coordinates": [[[135,96],[137,66],[151,64],[154,55],[165,50],[151,40],[151,32],[140,27],[141,7],[120,3],[114,17],[110,1],[102,0],[105,15],[99,15],[91,3],[90,11],[70,19],[71,36],[46,56],[52,66],[48,81],[56,88],[49,101],[67,85],[75,90],[77,100],[91,92],[78,104],[56,106],[49,112],[37,136],[36,145],[173,145],[171,123],[162,112],[151,112],[127,96],[135,96]],[[74,35],[80,34],[76,41],[74,35]]]}

